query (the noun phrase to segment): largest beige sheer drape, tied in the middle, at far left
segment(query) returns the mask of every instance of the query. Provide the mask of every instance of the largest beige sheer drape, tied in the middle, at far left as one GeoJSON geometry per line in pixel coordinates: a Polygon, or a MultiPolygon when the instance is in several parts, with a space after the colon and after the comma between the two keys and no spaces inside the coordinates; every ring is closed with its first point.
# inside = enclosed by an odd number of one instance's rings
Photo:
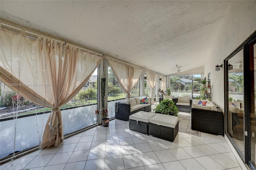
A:
{"type": "Polygon", "coordinates": [[[77,47],[38,36],[31,40],[1,28],[0,81],[26,99],[52,108],[41,147],[63,140],[60,107],[70,101],[90,78],[102,57],[77,47]]]}

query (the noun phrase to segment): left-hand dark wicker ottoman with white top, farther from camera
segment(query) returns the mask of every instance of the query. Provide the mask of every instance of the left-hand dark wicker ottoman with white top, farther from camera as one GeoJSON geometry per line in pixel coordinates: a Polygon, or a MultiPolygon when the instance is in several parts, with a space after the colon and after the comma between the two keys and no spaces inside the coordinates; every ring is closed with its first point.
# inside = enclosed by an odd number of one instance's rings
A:
{"type": "Polygon", "coordinates": [[[148,134],[149,119],[156,113],[139,111],[129,116],[129,128],[140,133],[148,134]]]}

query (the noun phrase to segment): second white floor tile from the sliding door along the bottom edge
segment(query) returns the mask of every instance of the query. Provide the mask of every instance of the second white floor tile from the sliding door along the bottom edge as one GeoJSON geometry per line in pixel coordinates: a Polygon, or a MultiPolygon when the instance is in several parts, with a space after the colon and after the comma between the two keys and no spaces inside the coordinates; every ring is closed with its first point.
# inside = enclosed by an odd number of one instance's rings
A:
{"type": "Polygon", "coordinates": [[[225,168],[212,160],[209,156],[202,156],[198,158],[194,158],[197,162],[199,162],[204,168],[207,170],[224,170],[225,168]]]}

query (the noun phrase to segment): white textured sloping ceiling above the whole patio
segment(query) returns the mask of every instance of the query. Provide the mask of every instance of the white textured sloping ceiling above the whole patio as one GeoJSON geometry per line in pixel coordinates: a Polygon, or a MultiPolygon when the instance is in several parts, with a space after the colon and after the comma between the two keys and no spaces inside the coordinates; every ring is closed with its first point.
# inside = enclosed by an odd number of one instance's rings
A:
{"type": "Polygon", "coordinates": [[[5,1],[1,18],[169,75],[201,73],[229,1],[5,1]]]}

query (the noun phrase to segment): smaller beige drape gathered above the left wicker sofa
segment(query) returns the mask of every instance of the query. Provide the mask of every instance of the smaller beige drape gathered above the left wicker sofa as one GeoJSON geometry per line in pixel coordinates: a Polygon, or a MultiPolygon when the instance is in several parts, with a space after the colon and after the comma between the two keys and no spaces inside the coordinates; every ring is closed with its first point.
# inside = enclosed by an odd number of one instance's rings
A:
{"type": "Polygon", "coordinates": [[[143,70],[126,63],[112,61],[110,58],[107,58],[107,60],[118,83],[127,94],[126,98],[130,98],[130,93],[140,80],[143,70]]]}

